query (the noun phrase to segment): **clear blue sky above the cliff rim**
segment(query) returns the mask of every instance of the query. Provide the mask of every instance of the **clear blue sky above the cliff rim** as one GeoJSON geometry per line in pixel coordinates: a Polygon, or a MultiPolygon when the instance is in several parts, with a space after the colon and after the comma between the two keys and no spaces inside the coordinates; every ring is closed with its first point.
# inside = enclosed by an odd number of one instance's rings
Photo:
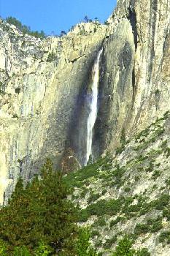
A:
{"type": "Polygon", "coordinates": [[[107,20],[116,0],[0,0],[2,18],[12,16],[32,30],[44,30],[46,34],[60,34],[79,23],[85,15],[107,20]]]}

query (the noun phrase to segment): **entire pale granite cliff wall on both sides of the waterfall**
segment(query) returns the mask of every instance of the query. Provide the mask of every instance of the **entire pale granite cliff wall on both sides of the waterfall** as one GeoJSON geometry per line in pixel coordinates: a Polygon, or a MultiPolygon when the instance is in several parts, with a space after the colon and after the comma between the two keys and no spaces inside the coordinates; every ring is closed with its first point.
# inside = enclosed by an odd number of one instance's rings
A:
{"type": "Polygon", "coordinates": [[[114,151],[124,129],[131,138],[169,109],[169,18],[169,0],[118,1],[108,26],[81,23],[42,41],[0,21],[1,204],[18,175],[27,181],[46,157],[61,167],[71,148],[74,167],[82,164],[90,71],[102,46],[96,157],[114,151]]]}

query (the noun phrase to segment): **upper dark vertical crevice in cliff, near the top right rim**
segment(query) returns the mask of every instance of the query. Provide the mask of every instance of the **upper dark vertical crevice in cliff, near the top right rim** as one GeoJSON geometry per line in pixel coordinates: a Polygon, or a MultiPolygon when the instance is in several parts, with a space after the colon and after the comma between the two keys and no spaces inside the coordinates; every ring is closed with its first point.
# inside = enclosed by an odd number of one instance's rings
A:
{"type": "Polygon", "coordinates": [[[137,49],[137,38],[138,38],[138,34],[137,34],[137,28],[136,28],[136,12],[134,10],[134,7],[130,5],[130,7],[128,7],[128,20],[131,23],[131,28],[132,31],[134,33],[134,45],[135,45],[135,50],[137,49]]]}

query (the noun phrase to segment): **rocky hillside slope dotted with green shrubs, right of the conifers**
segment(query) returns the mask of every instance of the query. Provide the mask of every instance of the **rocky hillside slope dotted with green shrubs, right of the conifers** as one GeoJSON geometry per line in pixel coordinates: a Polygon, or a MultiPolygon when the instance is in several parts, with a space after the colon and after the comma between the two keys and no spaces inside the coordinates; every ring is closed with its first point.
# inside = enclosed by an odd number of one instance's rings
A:
{"type": "MultiPolygon", "coordinates": [[[[169,244],[169,117],[167,111],[131,140],[123,129],[115,155],[64,177],[74,187],[72,200],[80,203],[79,222],[90,224],[100,255],[112,255],[123,234],[139,247],[152,236],[169,244]]],[[[142,249],[137,255],[150,253],[142,249]]]]}

